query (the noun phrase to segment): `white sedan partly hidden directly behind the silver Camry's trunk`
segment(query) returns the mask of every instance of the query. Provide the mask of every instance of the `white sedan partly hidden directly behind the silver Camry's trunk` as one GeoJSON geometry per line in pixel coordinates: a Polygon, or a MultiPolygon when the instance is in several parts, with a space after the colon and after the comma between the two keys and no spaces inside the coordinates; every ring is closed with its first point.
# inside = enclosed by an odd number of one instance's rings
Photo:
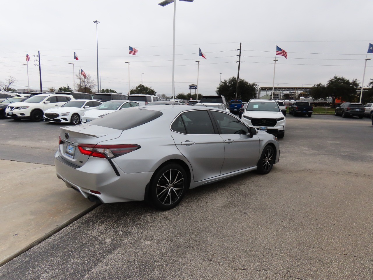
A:
{"type": "Polygon", "coordinates": [[[94,119],[101,118],[109,113],[119,111],[124,108],[138,107],[140,103],[130,100],[110,100],[102,103],[94,110],[83,113],[82,123],[90,122],[94,119]]]}

